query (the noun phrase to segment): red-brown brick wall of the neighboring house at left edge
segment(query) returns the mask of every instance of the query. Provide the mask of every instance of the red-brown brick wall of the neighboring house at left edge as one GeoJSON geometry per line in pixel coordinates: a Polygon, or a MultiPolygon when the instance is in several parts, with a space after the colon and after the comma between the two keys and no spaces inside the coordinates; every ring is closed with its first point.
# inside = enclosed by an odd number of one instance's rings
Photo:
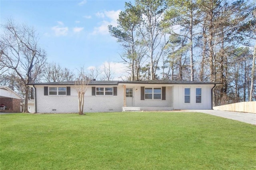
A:
{"type": "Polygon", "coordinates": [[[1,97],[0,104],[7,107],[4,112],[20,112],[20,99],[1,97]]]}

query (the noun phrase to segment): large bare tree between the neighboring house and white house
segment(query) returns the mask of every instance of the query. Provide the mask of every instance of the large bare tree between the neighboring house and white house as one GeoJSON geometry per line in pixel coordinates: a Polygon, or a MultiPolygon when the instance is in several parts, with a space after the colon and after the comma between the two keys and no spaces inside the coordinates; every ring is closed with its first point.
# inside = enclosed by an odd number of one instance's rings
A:
{"type": "Polygon", "coordinates": [[[38,35],[34,28],[15,24],[9,19],[2,25],[2,30],[0,67],[13,69],[22,80],[25,87],[23,112],[28,113],[30,87],[27,83],[33,83],[32,73],[38,73],[36,69],[42,69],[42,65],[46,62],[46,52],[38,46],[38,35]]]}

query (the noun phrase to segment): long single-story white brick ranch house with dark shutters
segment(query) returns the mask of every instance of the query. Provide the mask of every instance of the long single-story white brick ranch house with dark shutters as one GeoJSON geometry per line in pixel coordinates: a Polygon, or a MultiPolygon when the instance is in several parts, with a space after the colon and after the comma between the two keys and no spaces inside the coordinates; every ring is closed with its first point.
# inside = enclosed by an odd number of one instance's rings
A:
{"type": "MultiPolygon", "coordinates": [[[[194,81],[90,81],[84,112],[212,109],[212,89],[220,83],[194,81]]],[[[28,84],[35,89],[36,113],[77,113],[74,82],[28,84]]]]}

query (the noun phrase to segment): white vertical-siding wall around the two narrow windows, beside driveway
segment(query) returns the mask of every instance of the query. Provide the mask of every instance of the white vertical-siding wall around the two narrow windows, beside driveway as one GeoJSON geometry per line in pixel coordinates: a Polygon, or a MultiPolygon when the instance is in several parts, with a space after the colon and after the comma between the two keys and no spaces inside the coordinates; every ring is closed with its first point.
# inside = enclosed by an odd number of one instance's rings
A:
{"type": "Polygon", "coordinates": [[[174,85],[174,109],[212,109],[211,89],[214,85],[174,85]],[[184,89],[190,88],[190,103],[184,103],[184,89]],[[196,88],[202,88],[202,103],[196,103],[196,88]]]}

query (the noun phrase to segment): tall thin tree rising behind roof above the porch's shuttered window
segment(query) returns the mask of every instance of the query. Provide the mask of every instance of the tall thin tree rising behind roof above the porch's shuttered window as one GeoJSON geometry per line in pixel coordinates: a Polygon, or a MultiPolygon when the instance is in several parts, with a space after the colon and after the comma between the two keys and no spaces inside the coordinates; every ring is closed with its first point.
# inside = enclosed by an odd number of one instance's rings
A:
{"type": "Polygon", "coordinates": [[[147,55],[150,59],[150,79],[152,80],[156,78],[158,61],[166,45],[162,45],[164,34],[161,27],[165,2],[164,0],[136,0],[135,4],[141,13],[139,31],[142,36],[142,41],[148,49],[147,55]]]}

